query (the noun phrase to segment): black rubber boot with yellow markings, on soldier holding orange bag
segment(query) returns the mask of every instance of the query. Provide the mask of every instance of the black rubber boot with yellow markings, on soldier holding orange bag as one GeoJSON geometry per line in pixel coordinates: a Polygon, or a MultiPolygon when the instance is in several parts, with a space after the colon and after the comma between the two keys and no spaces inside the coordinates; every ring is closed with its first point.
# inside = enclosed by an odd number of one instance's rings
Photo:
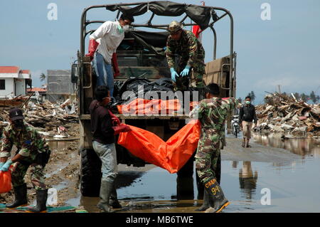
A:
{"type": "Polygon", "coordinates": [[[208,208],[208,213],[219,213],[226,206],[230,204],[228,199],[225,198],[223,191],[215,178],[211,178],[204,183],[205,190],[208,192],[209,199],[213,200],[212,208],[208,208]]]}

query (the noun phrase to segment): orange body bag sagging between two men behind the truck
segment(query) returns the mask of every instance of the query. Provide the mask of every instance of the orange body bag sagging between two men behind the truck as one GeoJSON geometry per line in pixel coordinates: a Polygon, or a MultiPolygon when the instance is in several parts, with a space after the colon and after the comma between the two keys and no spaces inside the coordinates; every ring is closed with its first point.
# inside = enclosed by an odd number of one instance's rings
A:
{"type": "Polygon", "coordinates": [[[156,134],[129,125],[130,132],[119,134],[118,144],[146,162],[176,173],[183,167],[198,147],[201,125],[193,120],[176,132],[166,142],[156,134]]]}

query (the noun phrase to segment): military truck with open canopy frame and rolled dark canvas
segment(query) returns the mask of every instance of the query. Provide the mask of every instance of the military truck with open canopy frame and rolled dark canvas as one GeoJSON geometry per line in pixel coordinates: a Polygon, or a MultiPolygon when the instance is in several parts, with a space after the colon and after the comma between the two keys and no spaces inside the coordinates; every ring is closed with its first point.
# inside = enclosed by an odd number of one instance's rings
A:
{"type": "MultiPolygon", "coordinates": [[[[212,43],[213,60],[206,63],[206,83],[218,83],[221,88],[221,97],[235,96],[235,66],[236,53],[233,52],[233,16],[226,9],[213,6],[197,6],[193,4],[178,4],[171,1],[151,1],[130,4],[106,4],[90,6],[83,10],[80,22],[80,51],[78,51],[78,62],[72,65],[72,81],[77,83],[80,120],[80,191],[83,196],[98,196],[100,190],[101,162],[92,149],[92,134],[90,129],[90,114],[88,107],[94,98],[95,70],[92,67],[90,58],[85,56],[89,42],[89,36],[105,21],[89,20],[87,14],[94,15],[95,10],[106,10],[105,15],[111,12],[116,14],[118,19],[122,13],[135,16],[129,31],[126,31],[125,38],[117,48],[117,60],[120,75],[114,82],[124,81],[129,78],[146,78],[156,80],[159,78],[170,78],[171,74],[166,62],[165,46],[169,33],[166,31],[168,23],[160,23],[155,17],[170,18],[170,21],[177,20],[183,23],[184,29],[192,26],[200,26],[203,31],[209,29],[213,34],[212,43]],[[151,14],[146,23],[139,23],[137,16],[151,14]],[[215,23],[221,19],[229,18],[230,22],[230,49],[228,56],[216,58],[217,35],[215,23]],[[156,20],[156,21],[155,21],[156,20]],[[154,22],[155,21],[155,22],[154,22]],[[94,29],[90,29],[91,27],[94,29]]],[[[107,20],[114,20],[108,18],[107,20]]],[[[106,21],[107,21],[106,20],[106,21]]],[[[207,51],[208,52],[208,51],[207,51]]],[[[227,52],[227,53],[228,53],[227,52]]],[[[177,56],[178,58],[178,56],[177,56]]],[[[187,114],[183,115],[119,115],[122,122],[141,127],[154,132],[159,137],[169,139],[183,125],[186,124],[187,114]]],[[[117,139],[117,138],[116,138],[117,139]]],[[[116,140],[117,141],[117,140],[116,140]]],[[[146,162],[134,157],[127,149],[116,145],[117,162],[119,164],[143,167],[146,162]]],[[[178,176],[193,176],[193,157],[178,171],[178,176]]]]}

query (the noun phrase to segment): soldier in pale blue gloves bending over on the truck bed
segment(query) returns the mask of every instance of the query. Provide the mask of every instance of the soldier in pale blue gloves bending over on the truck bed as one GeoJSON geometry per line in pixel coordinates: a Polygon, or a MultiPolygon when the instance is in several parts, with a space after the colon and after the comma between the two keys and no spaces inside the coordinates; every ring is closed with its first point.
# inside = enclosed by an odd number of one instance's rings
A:
{"type": "MultiPolygon", "coordinates": [[[[176,81],[178,90],[188,90],[191,84],[190,71],[192,69],[199,95],[204,95],[203,89],[206,84],[203,81],[203,75],[206,73],[206,64],[202,44],[191,31],[183,30],[178,21],[172,21],[167,31],[171,33],[166,42],[166,58],[171,71],[171,79],[176,81]],[[180,56],[176,70],[174,69],[175,54],[180,56]]],[[[199,100],[201,99],[200,97],[199,100]]]]}

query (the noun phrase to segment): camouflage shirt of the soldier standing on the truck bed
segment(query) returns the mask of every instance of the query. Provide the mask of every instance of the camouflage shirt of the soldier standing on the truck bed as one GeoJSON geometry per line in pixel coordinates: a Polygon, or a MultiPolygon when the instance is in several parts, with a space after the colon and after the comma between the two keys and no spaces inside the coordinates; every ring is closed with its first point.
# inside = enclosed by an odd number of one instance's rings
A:
{"type": "Polygon", "coordinates": [[[174,41],[171,36],[166,41],[166,58],[168,60],[169,68],[174,67],[174,55],[181,56],[179,67],[186,67],[190,65],[193,67],[196,63],[204,65],[205,51],[198,38],[191,32],[182,30],[179,41],[174,41]]]}

